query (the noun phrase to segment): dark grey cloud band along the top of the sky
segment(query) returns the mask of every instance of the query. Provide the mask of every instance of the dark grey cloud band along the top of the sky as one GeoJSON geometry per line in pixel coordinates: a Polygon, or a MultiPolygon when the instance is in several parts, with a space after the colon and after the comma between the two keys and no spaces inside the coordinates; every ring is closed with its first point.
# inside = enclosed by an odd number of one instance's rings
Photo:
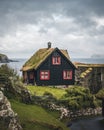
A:
{"type": "Polygon", "coordinates": [[[85,28],[95,25],[92,15],[104,16],[103,0],[0,0],[0,25],[10,28],[17,24],[37,24],[53,14],[73,17],[85,28]]]}

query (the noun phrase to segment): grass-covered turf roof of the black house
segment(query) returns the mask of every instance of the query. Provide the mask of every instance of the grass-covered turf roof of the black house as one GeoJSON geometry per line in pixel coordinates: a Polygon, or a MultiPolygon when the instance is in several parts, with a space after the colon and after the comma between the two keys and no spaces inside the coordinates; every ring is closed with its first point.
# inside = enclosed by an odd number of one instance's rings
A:
{"type": "MultiPolygon", "coordinates": [[[[22,71],[37,69],[38,66],[57,48],[43,48],[39,49],[22,67],[22,71]]],[[[61,53],[70,59],[67,50],[60,50],[61,53]]]]}

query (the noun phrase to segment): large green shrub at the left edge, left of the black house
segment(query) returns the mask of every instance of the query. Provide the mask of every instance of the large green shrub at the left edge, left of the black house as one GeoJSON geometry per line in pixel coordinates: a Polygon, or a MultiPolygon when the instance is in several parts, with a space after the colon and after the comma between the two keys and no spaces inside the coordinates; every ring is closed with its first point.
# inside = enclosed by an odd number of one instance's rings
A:
{"type": "Polygon", "coordinates": [[[0,67],[0,88],[8,98],[20,98],[21,90],[24,88],[17,72],[7,64],[0,67]]]}

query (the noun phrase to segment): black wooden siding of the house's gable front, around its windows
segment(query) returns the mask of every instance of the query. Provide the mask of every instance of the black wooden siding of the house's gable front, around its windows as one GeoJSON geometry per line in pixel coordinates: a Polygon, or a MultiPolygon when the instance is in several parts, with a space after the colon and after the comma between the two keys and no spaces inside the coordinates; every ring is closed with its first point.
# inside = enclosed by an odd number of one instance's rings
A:
{"type": "Polygon", "coordinates": [[[74,76],[75,76],[75,68],[72,64],[69,63],[66,57],[64,57],[60,52],[55,51],[53,52],[37,69],[37,78],[36,84],[37,85],[72,85],[74,84],[74,76]],[[53,56],[60,56],[61,57],[61,64],[60,65],[53,65],[52,64],[52,57],[53,56]],[[50,71],[50,80],[40,80],[40,71],[42,70],[49,70],[50,71]],[[72,70],[72,79],[64,80],[63,79],[63,70],[72,70]]]}

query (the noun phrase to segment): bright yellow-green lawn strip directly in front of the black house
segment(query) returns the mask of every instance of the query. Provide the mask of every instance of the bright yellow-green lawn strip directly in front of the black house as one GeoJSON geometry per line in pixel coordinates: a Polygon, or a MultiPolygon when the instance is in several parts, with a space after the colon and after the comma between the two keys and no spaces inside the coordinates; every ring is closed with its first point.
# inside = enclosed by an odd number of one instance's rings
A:
{"type": "Polygon", "coordinates": [[[41,86],[26,86],[32,95],[42,96],[45,92],[52,93],[54,97],[60,99],[66,94],[65,89],[53,88],[53,87],[41,87],[41,86]]]}

